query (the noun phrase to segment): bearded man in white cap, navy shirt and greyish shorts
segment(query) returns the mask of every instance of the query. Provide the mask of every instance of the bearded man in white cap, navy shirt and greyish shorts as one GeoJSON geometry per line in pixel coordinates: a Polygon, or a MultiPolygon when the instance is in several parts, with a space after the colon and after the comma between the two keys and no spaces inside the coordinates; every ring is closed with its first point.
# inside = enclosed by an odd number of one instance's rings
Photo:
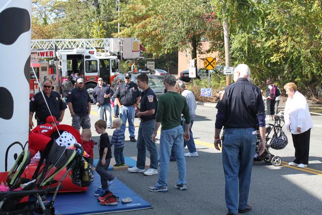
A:
{"type": "Polygon", "coordinates": [[[84,89],[84,79],[77,79],[76,87],[69,91],[66,101],[72,117],[71,126],[78,131],[81,126],[91,128],[91,97],[84,89]]]}

